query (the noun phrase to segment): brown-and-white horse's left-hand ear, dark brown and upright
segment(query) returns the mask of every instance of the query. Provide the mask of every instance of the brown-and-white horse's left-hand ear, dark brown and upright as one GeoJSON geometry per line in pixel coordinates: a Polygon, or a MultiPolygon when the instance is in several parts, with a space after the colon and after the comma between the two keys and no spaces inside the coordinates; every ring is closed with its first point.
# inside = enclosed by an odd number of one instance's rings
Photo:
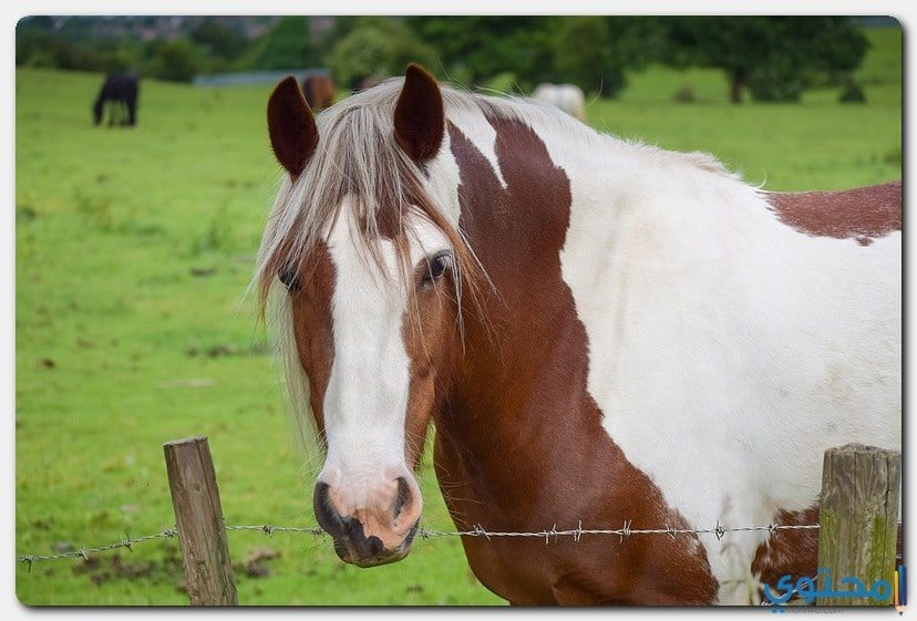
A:
{"type": "Polygon", "coordinates": [[[268,100],[268,133],[277,161],[296,177],[318,144],[316,118],[296,77],[288,75],[268,100]]]}

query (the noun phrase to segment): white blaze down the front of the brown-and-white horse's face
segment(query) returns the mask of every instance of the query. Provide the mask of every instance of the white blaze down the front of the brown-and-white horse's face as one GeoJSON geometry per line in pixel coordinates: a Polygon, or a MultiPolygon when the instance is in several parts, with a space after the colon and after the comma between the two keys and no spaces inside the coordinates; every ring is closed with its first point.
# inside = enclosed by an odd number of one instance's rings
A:
{"type": "MultiPolygon", "coordinates": [[[[411,361],[402,332],[413,282],[403,282],[392,240],[378,240],[381,261],[368,259],[356,241],[360,234],[351,210],[348,197],[327,238],[336,273],[334,359],[323,404],[328,454],[319,480],[360,494],[379,482],[413,479],[404,463],[411,361]]],[[[450,248],[431,222],[405,218],[413,266],[450,248]]],[[[362,499],[352,501],[359,507],[362,499]]]]}

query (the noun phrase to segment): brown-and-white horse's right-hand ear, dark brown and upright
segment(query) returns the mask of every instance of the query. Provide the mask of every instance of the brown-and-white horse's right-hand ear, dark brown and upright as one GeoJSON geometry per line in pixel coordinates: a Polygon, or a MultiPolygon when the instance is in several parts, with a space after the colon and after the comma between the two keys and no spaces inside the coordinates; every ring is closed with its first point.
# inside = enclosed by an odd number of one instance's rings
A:
{"type": "Polygon", "coordinates": [[[409,64],[404,73],[394,124],[398,146],[414,162],[425,162],[440,151],[445,132],[443,96],[436,80],[419,64],[409,64]]]}

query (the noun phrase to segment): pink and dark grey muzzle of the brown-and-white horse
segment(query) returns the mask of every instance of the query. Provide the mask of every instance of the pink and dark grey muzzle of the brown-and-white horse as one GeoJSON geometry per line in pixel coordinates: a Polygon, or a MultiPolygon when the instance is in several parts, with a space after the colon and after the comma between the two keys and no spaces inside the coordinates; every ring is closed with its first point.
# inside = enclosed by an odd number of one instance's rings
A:
{"type": "Polygon", "coordinates": [[[317,483],[313,496],[319,526],[331,535],[342,561],[358,567],[395,562],[408,556],[418,532],[421,497],[416,484],[399,477],[354,506],[348,495],[317,483]]]}

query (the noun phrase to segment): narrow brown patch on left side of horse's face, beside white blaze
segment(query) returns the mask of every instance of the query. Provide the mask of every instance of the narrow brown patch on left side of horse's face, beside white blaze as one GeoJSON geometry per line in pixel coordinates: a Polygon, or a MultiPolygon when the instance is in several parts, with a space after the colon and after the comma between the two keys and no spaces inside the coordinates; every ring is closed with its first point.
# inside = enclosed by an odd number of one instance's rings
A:
{"type": "Polygon", "coordinates": [[[334,363],[331,300],[336,282],[334,263],[324,242],[316,244],[298,269],[298,287],[290,291],[293,337],[299,361],[309,379],[312,416],[323,439],[324,392],[334,363]]]}

